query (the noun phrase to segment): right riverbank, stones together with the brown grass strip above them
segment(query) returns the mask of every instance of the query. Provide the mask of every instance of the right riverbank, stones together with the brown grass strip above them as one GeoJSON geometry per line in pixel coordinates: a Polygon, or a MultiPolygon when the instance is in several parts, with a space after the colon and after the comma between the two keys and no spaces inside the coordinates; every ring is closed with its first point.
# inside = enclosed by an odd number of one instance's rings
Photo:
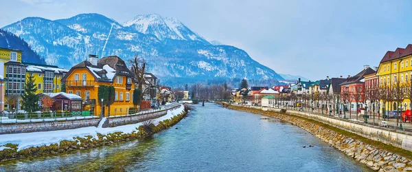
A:
{"type": "MultiPolygon", "coordinates": [[[[250,109],[247,107],[238,107],[229,105],[230,109],[249,111],[254,114],[271,116],[297,125],[302,129],[312,133],[321,140],[328,142],[336,149],[343,151],[348,156],[366,164],[369,168],[376,171],[412,171],[412,153],[404,150],[404,153],[399,153],[397,147],[388,144],[383,144],[374,140],[357,136],[354,133],[325,125],[321,122],[294,116],[290,114],[280,114],[274,111],[262,111],[260,109],[250,109]],[[384,149],[386,148],[386,149],[384,149]],[[389,149],[389,150],[388,150],[389,149]],[[396,151],[398,153],[393,153],[396,151]]],[[[403,149],[402,149],[403,150],[403,149]]]]}

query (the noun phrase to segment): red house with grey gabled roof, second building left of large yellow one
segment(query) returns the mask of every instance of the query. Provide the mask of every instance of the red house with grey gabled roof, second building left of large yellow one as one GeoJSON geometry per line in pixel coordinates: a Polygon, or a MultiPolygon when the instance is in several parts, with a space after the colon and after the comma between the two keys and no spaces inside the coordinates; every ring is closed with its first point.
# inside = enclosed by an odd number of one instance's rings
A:
{"type": "Polygon", "coordinates": [[[346,107],[352,111],[357,111],[358,108],[364,107],[365,101],[365,76],[375,74],[375,70],[369,65],[364,65],[363,70],[355,76],[348,76],[341,83],[341,101],[347,103],[350,107],[346,107]]]}

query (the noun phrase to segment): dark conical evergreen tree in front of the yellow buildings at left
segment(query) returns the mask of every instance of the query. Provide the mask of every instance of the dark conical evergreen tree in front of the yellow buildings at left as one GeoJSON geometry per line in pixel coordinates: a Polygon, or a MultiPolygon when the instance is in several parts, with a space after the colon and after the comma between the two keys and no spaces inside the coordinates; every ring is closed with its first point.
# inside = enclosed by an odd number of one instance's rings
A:
{"type": "Polygon", "coordinates": [[[34,76],[32,73],[26,78],[27,82],[24,88],[22,105],[27,112],[38,111],[38,96],[36,95],[37,87],[34,85],[34,76]]]}

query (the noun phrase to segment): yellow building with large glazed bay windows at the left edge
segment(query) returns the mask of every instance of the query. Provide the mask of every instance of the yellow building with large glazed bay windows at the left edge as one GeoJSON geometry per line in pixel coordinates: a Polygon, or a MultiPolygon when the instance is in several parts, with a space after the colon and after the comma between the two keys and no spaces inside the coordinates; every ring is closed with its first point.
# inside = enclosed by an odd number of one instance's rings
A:
{"type": "Polygon", "coordinates": [[[21,96],[24,94],[25,67],[21,63],[21,50],[0,47],[0,109],[19,109],[21,96]]]}

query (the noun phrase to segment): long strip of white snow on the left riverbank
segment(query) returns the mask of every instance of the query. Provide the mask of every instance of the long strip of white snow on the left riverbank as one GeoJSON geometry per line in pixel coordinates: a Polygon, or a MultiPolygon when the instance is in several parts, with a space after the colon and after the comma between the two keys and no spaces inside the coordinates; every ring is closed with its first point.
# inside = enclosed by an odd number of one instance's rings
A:
{"type": "MultiPolygon", "coordinates": [[[[184,111],[184,106],[173,110],[168,110],[165,116],[156,118],[153,120],[153,123],[157,125],[159,121],[167,120],[176,116],[184,111]]],[[[34,133],[11,133],[3,134],[0,137],[0,145],[5,145],[8,143],[19,144],[17,151],[22,149],[27,149],[29,147],[39,147],[42,145],[49,146],[50,144],[59,144],[62,140],[76,140],[76,137],[92,136],[95,139],[98,139],[98,133],[108,134],[121,131],[123,133],[132,133],[137,131],[137,128],[142,125],[142,122],[132,125],[122,125],[118,127],[108,127],[108,128],[99,128],[99,127],[82,127],[78,129],[66,129],[58,131],[41,131],[34,133]]],[[[0,149],[8,149],[1,148],[0,149]]]]}

